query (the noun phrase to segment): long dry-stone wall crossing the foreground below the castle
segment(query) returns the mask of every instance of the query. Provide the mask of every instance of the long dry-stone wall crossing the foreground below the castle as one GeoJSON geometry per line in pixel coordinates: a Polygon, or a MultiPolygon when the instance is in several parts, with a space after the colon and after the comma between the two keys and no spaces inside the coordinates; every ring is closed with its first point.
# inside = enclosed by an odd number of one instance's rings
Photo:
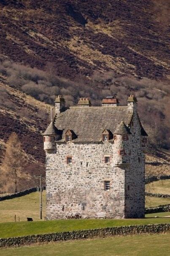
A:
{"type": "Polygon", "coordinates": [[[2,238],[0,239],[0,247],[12,247],[30,245],[34,243],[59,242],[94,237],[103,238],[110,236],[124,236],[135,234],[155,234],[160,232],[167,232],[169,230],[170,224],[168,223],[96,228],[80,231],[67,231],[59,233],[30,235],[25,237],[2,238]]]}

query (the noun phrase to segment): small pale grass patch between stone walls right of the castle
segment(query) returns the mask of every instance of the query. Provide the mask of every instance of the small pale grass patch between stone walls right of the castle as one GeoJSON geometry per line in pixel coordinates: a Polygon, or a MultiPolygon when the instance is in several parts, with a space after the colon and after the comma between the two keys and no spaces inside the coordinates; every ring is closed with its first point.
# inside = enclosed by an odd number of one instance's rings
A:
{"type": "Polygon", "coordinates": [[[146,184],[146,191],[151,193],[170,195],[170,179],[154,181],[150,184],[146,184]]]}

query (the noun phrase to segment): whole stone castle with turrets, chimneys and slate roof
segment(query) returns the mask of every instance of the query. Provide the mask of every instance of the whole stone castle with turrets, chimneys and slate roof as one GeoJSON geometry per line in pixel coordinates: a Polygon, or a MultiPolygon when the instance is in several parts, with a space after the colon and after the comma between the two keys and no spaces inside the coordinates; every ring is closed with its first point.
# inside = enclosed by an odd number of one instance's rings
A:
{"type": "Polygon", "coordinates": [[[58,96],[43,138],[47,219],[144,217],[147,134],[134,95],[67,109],[58,96]]]}

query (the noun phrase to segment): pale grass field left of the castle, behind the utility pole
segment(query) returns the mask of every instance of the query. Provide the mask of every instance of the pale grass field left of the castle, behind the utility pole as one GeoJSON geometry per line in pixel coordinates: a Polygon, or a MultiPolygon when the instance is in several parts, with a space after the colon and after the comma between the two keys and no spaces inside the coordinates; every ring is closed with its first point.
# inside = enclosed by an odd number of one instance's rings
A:
{"type": "MultiPolygon", "coordinates": [[[[8,199],[0,202],[0,222],[27,220],[32,217],[33,220],[39,219],[39,192],[33,192],[19,198],[8,199]]],[[[46,216],[46,191],[43,191],[43,217],[46,216]]]]}

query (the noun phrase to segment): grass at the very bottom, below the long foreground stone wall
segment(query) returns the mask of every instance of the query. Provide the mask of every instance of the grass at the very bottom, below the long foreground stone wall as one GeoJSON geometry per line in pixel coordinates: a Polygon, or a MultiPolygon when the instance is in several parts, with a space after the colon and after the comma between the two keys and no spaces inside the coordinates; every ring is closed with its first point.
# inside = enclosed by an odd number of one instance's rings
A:
{"type": "Polygon", "coordinates": [[[104,239],[79,240],[71,242],[51,243],[48,245],[25,246],[1,250],[2,256],[23,255],[164,255],[170,253],[170,234],[138,235],[129,237],[111,237],[104,239]]]}

